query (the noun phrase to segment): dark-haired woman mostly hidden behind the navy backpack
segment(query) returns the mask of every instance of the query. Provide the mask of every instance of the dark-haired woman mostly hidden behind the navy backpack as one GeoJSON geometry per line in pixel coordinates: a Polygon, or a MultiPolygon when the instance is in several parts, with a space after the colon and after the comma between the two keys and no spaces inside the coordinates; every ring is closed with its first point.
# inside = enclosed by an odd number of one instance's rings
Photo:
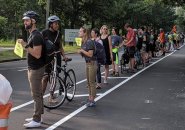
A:
{"type": "MultiPolygon", "coordinates": [[[[92,37],[92,40],[97,41],[98,43],[100,43],[103,46],[103,42],[100,39],[100,32],[99,32],[99,30],[97,28],[93,28],[91,30],[91,37],[92,37]]],[[[97,74],[96,74],[97,84],[96,84],[96,89],[101,89],[101,71],[100,71],[100,68],[101,68],[101,64],[97,63],[97,74]]]]}

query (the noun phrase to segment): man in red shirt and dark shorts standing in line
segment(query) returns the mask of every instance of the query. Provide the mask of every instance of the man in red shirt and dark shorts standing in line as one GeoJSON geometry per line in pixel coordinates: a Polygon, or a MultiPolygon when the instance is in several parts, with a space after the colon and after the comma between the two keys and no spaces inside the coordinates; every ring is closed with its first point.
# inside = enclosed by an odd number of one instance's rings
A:
{"type": "Polygon", "coordinates": [[[127,30],[127,35],[126,35],[127,41],[125,45],[127,47],[127,51],[130,57],[129,68],[131,72],[135,72],[136,70],[134,69],[134,66],[135,66],[134,54],[135,54],[135,46],[136,46],[136,34],[128,23],[125,24],[124,28],[125,30],[127,30]]]}

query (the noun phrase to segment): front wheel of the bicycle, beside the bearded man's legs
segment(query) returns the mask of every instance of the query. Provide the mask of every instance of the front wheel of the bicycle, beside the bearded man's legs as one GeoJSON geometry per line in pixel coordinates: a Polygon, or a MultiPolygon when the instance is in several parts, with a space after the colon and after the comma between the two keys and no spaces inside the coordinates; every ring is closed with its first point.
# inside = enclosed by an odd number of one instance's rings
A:
{"type": "MultiPolygon", "coordinates": [[[[46,75],[45,75],[46,76],[46,75]]],[[[61,106],[66,98],[66,89],[63,80],[51,74],[48,75],[48,82],[46,87],[46,95],[44,95],[44,107],[49,109],[55,109],[61,106]],[[54,88],[52,89],[52,87],[54,88]]]]}

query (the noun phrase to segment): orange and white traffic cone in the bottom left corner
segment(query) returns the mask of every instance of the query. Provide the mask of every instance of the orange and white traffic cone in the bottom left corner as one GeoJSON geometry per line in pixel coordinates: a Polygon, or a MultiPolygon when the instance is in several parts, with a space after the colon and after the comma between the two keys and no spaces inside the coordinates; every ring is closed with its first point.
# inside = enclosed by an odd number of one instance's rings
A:
{"type": "Polygon", "coordinates": [[[0,104],[0,130],[8,130],[8,117],[12,103],[0,104]]]}

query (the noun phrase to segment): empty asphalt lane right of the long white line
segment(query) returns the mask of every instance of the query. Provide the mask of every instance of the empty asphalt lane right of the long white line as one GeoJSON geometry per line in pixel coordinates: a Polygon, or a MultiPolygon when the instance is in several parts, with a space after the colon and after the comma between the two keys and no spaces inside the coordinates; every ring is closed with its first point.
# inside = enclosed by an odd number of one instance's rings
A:
{"type": "Polygon", "coordinates": [[[85,109],[59,129],[184,130],[184,48],[85,109]]]}

